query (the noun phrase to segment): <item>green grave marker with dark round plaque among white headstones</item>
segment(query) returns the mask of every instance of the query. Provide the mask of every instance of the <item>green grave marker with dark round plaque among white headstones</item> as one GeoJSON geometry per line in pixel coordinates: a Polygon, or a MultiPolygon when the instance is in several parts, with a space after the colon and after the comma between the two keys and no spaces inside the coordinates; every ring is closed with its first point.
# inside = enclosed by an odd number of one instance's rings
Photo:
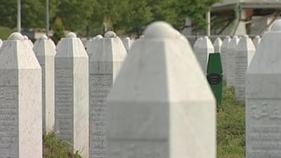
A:
{"type": "Polygon", "coordinates": [[[207,79],[216,97],[216,104],[221,105],[223,96],[223,67],[221,53],[210,53],[207,67],[207,79]]]}

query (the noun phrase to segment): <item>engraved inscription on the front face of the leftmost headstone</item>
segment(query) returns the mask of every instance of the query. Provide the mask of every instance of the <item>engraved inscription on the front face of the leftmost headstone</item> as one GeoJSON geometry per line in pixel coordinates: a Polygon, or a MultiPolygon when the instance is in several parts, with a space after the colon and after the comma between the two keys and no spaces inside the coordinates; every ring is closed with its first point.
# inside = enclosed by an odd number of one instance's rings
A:
{"type": "Polygon", "coordinates": [[[17,86],[0,86],[0,157],[18,157],[17,86]]]}

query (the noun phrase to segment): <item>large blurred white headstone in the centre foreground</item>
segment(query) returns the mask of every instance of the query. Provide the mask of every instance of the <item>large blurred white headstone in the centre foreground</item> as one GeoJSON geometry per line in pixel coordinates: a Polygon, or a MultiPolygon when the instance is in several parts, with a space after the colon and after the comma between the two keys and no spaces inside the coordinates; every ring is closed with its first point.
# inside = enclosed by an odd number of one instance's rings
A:
{"type": "Polygon", "coordinates": [[[131,47],[107,100],[107,158],[116,157],[216,157],[214,96],[166,22],[131,47]]]}

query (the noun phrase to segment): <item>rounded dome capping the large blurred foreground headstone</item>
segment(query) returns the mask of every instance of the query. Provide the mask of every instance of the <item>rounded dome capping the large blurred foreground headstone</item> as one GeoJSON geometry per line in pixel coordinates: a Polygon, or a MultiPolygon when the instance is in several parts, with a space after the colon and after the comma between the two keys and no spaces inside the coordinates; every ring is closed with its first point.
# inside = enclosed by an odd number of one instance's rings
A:
{"type": "Polygon", "coordinates": [[[153,37],[172,37],[176,38],[177,35],[175,33],[175,29],[166,22],[152,22],[152,24],[148,25],[145,29],[145,38],[153,38],[153,37]]]}

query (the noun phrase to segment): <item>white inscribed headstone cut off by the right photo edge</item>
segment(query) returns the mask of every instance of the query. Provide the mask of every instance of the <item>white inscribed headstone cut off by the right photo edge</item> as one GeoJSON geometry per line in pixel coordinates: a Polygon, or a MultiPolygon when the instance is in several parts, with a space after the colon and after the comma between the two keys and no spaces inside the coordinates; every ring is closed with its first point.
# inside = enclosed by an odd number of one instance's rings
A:
{"type": "Polygon", "coordinates": [[[280,157],[281,20],[273,23],[246,75],[246,156],[280,157]]]}

